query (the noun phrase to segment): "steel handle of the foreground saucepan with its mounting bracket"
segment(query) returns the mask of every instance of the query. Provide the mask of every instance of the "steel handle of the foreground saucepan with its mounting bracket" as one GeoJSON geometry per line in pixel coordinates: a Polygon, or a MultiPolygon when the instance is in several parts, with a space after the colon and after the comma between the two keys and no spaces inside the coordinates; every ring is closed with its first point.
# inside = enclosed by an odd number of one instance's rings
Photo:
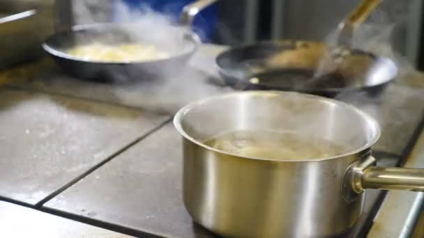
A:
{"type": "Polygon", "coordinates": [[[375,163],[376,159],[368,156],[349,166],[342,184],[346,200],[354,198],[352,193],[362,193],[365,189],[424,191],[424,169],[377,167],[373,166],[375,163]],[[351,189],[346,189],[349,180],[351,189]]]}

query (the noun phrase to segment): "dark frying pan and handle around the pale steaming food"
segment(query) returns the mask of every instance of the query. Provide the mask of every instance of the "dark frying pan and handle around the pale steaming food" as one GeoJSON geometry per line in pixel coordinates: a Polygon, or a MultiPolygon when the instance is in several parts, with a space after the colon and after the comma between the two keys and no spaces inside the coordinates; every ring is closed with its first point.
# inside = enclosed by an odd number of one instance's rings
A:
{"type": "Polygon", "coordinates": [[[137,23],[98,23],[74,26],[71,31],[59,32],[48,38],[43,49],[68,74],[82,79],[96,81],[123,82],[139,79],[158,79],[181,71],[190,56],[196,51],[200,40],[191,31],[190,25],[195,15],[217,0],[200,0],[185,6],[181,15],[181,29],[169,33],[169,38],[157,37],[155,26],[142,26],[137,23]],[[143,29],[142,27],[146,27],[143,29]],[[106,45],[144,43],[155,45],[170,56],[155,61],[104,62],[89,61],[67,54],[77,45],[99,42],[106,45]]]}

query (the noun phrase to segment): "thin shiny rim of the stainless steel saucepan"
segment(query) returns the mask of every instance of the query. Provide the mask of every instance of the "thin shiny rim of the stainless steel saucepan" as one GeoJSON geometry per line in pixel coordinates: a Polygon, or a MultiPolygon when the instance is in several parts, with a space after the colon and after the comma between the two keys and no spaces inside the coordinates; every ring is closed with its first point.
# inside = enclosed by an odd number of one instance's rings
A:
{"type": "Polygon", "coordinates": [[[328,161],[328,160],[331,160],[331,159],[340,159],[342,157],[349,157],[353,154],[358,154],[358,153],[360,153],[364,150],[371,148],[371,146],[374,145],[378,141],[378,139],[381,135],[381,128],[380,128],[377,120],[372,118],[372,116],[368,115],[368,113],[365,113],[364,111],[361,111],[360,109],[356,108],[355,106],[351,106],[349,104],[346,104],[345,102],[332,100],[332,99],[327,98],[327,97],[310,95],[310,94],[306,94],[306,93],[282,92],[282,91],[278,91],[278,90],[266,90],[266,91],[250,90],[250,91],[226,93],[226,94],[223,94],[223,95],[215,95],[215,96],[212,96],[212,97],[206,97],[206,98],[203,98],[201,100],[197,100],[195,102],[191,102],[190,104],[181,108],[175,114],[175,116],[174,116],[174,127],[181,134],[181,136],[188,139],[188,141],[191,141],[192,143],[195,143],[196,145],[199,145],[200,147],[205,148],[206,150],[211,150],[211,151],[216,152],[218,154],[225,154],[225,155],[228,155],[228,156],[239,157],[239,158],[243,158],[243,159],[254,159],[254,160],[259,160],[259,161],[275,161],[275,162],[328,161]],[[223,151],[223,150],[218,150],[218,149],[212,148],[209,145],[205,145],[204,143],[202,143],[200,141],[197,141],[195,138],[192,138],[192,136],[190,136],[187,132],[185,132],[185,130],[183,129],[183,125],[181,125],[181,121],[183,120],[185,114],[187,114],[191,109],[194,109],[195,107],[198,107],[198,106],[202,106],[203,104],[207,104],[208,102],[211,102],[213,100],[218,100],[218,99],[223,98],[223,97],[234,97],[236,95],[296,95],[296,96],[301,95],[302,97],[310,97],[310,98],[315,98],[317,100],[324,100],[324,101],[332,103],[332,104],[344,106],[344,107],[354,111],[355,113],[358,113],[359,116],[365,118],[365,120],[368,122],[368,124],[370,124],[370,128],[374,130],[374,135],[367,143],[362,145],[360,148],[357,148],[355,150],[351,150],[349,152],[345,152],[343,154],[337,154],[337,155],[334,155],[334,156],[331,156],[331,157],[314,158],[314,159],[287,160],[287,159],[267,159],[267,158],[261,158],[261,157],[245,157],[245,156],[241,156],[240,154],[234,154],[234,153],[226,152],[226,151],[223,151]]]}

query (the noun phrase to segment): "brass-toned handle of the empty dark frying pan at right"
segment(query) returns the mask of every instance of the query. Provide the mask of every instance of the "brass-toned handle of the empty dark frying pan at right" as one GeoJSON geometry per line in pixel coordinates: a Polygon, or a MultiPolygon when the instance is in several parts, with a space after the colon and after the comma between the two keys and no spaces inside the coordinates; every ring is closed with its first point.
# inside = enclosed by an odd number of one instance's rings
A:
{"type": "Polygon", "coordinates": [[[349,13],[347,18],[340,22],[338,26],[339,42],[338,45],[347,45],[351,47],[354,31],[371,15],[375,8],[379,6],[382,0],[362,0],[354,10],[349,13]]]}

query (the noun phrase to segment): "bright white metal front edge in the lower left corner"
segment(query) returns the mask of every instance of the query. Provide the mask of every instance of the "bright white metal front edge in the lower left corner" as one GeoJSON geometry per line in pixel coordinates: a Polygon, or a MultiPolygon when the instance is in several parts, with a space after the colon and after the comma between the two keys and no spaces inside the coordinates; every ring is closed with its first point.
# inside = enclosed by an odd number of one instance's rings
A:
{"type": "Polygon", "coordinates": [[[0,237],[130,238],[110,230],[0,201],[0,237]]]}

